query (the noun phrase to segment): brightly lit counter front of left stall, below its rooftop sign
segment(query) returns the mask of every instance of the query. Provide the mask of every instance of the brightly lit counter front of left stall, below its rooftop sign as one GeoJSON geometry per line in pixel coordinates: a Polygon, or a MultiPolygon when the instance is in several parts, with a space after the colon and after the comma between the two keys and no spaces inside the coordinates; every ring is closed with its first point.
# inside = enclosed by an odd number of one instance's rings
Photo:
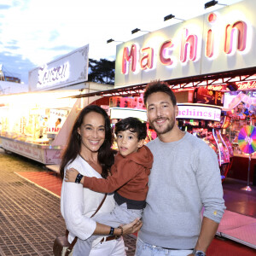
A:
{"type": "Polygon", "coordinates": [[[2,148],[43,164],[58,164],[65,145],[60,138],[80,108],[80,100],[67,97],[71,94],[62,90],[0,96],[2,148]],[[57,119],[61,124],[55,124],[57,119]]]}

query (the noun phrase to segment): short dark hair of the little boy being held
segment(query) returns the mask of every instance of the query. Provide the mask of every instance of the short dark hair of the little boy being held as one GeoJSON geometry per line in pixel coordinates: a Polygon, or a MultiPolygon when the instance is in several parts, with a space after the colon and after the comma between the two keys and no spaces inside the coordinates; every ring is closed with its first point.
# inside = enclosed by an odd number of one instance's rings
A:
{"type": "Polygon", "coordinates": [[[147,125],[140,119],[129,117],[120,120],[115,124],[114,133],[117,135],[119,131],[131,131],[137,132],[138,141],[143,140],[147,137],[147,125]]]}

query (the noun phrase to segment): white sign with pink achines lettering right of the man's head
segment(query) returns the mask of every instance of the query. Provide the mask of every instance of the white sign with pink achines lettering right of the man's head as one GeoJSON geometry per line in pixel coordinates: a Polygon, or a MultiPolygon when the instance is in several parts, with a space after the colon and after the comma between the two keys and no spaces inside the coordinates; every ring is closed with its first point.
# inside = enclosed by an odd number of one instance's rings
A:
{"type": "Polygon", "coordinates": [[[204,119],[220,121],[221,108],[200,104],[177,104],[177,119],[204,119]]]}

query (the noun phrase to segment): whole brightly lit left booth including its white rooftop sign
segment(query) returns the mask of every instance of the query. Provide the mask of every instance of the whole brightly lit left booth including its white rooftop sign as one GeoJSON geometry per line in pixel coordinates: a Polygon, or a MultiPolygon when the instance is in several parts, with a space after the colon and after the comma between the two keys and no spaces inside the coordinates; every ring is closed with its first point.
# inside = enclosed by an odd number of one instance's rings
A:
{"type": "Polygon", "coordinates": [[[29,72],[29,92],[0,96],[3,149],[45,165],[60,163],[61,151],[79,111],[99,98],[70,96],[113,87],[86,83],[88,52],[89,45],[85,45],[33,69],[29,72]]]}

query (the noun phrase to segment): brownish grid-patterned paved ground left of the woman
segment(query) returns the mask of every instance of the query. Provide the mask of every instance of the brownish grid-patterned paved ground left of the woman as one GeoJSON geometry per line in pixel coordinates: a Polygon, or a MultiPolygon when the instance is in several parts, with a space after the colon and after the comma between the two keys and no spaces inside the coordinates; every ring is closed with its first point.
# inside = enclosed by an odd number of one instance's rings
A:
{"type": "MultiPolygon", "coordinates": [[[[53,255],[56,236],[65,234],[60,198],[15,172],[45,172],[44,165],[0,148],[0,255],[53,255]]],[[[125,236],[127,256],[135,238],[125,236]]]]}

